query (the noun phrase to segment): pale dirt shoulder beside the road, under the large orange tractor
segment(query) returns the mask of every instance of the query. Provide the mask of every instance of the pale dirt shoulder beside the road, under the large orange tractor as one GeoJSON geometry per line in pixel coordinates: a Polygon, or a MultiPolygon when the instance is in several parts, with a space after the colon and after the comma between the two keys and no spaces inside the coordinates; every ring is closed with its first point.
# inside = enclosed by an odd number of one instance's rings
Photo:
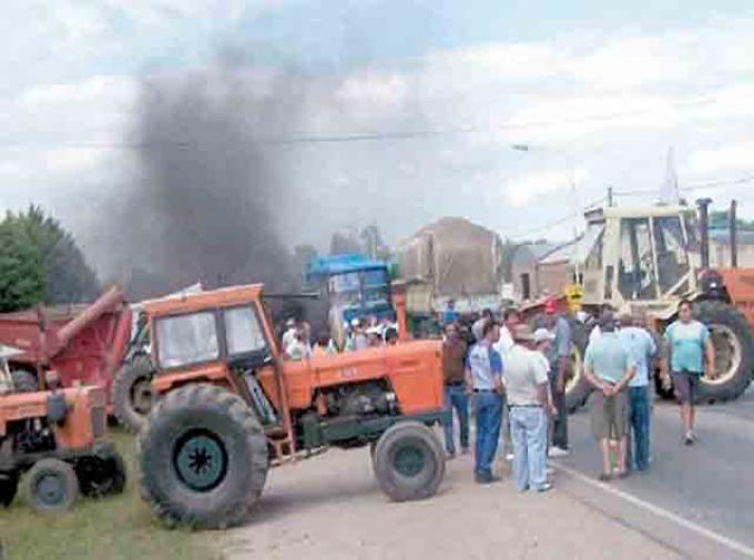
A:
{"type": "Polygon", "coordinates": [[[480,487],[471,469],[470,457],[448,462],[439,495],[410,503],[385,498],[364,449],[333,450],[274,469],[248,523],[226,534],[223,557],[679,558],[557,488],[546,495],[519,495],[509,477],[480,487]]]}

